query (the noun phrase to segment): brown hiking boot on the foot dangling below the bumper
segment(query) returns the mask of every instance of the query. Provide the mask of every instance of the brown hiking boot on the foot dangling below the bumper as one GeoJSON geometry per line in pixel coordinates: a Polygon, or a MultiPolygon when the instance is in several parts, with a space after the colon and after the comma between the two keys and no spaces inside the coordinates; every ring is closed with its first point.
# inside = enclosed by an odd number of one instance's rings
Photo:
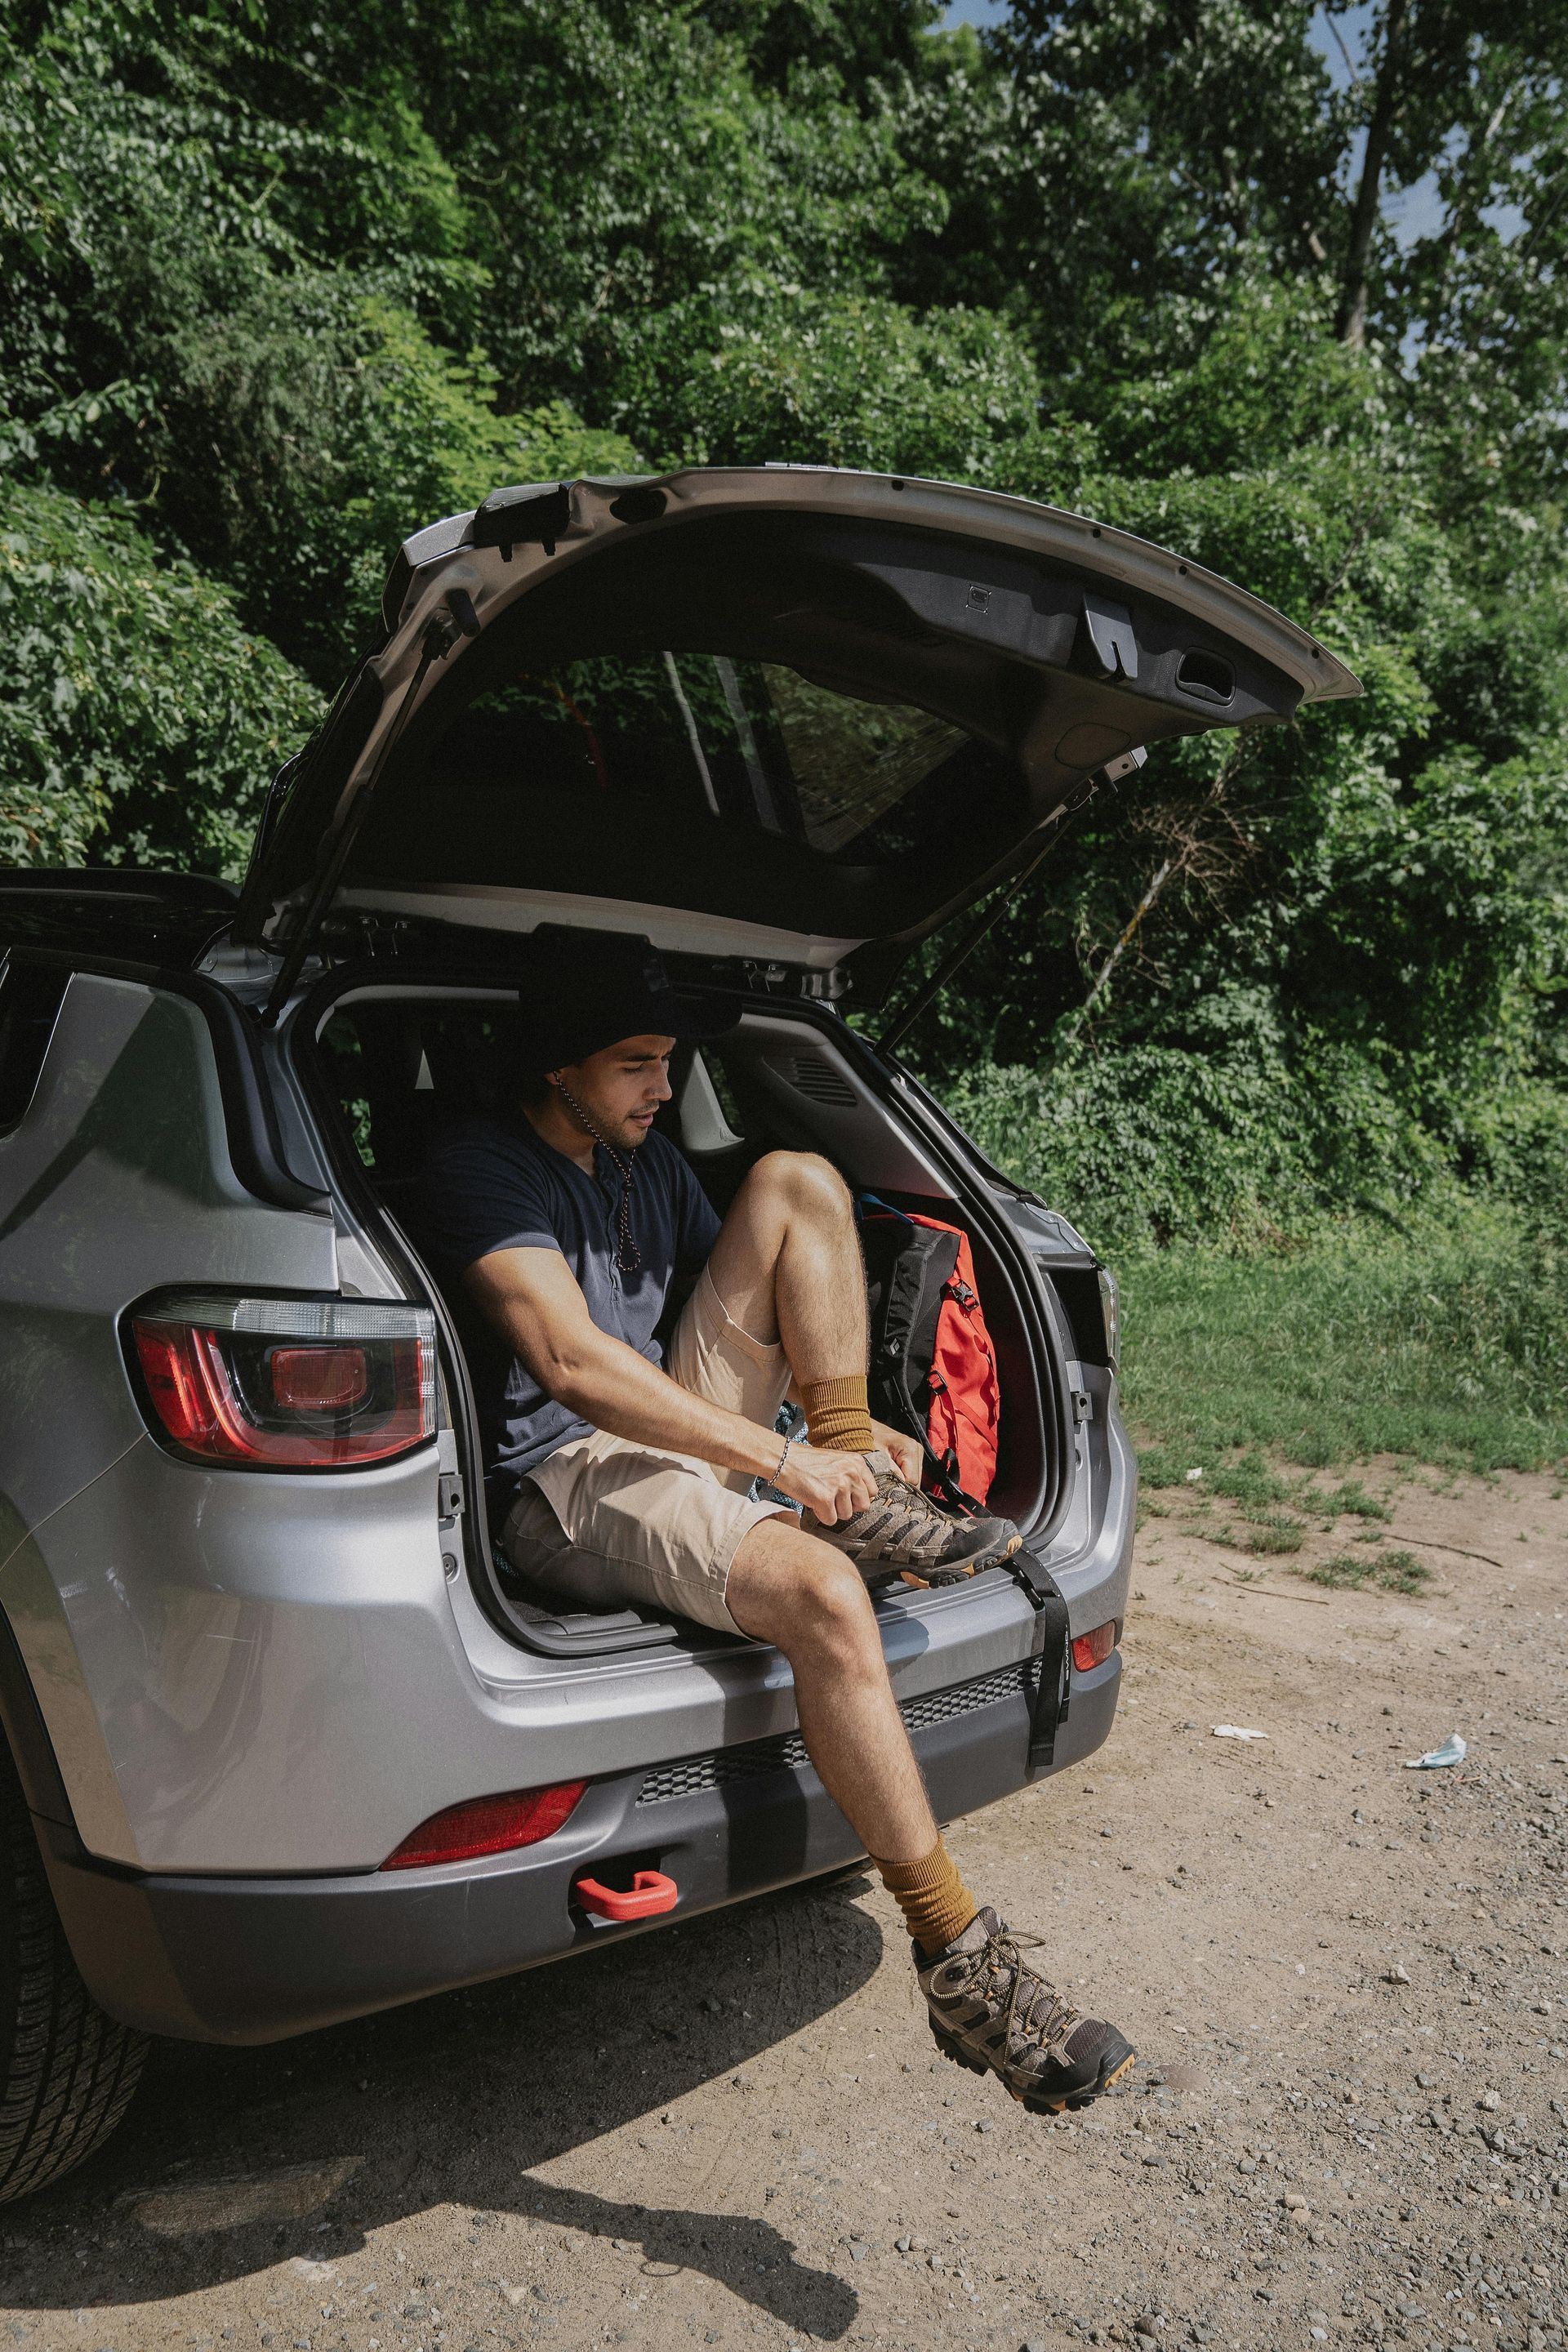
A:
{"type": "Polygon", "coordinates": [[[1135,2053],[1114,2025],[1081,2016],[1025,1966],[1020,1945],[1039,1940],[1013,1936],[985,1907],[936,1959],[914,1945],[914,1969],[943,2058],[999,2074],[1030,2114],[1060,2114],[1121,2082],[1135,2053]]]}

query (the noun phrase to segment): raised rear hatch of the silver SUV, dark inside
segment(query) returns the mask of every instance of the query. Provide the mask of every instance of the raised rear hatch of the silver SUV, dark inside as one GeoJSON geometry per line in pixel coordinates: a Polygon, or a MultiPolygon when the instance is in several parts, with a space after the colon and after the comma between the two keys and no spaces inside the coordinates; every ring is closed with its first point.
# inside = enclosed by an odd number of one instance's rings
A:
{"type": "Polygon", "coordinates": [[[1135,746],[1356,680],[1128,534],[827,468],[496,492],[407,541],[240,936],[585,922],[832,971],[1011,873],[1135,746]]]}

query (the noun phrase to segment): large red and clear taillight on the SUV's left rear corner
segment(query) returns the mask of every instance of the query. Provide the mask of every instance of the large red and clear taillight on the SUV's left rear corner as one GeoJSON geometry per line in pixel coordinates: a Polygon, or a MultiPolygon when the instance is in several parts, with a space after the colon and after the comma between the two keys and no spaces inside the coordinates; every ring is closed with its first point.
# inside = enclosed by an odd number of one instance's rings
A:
{"type": "Polygon", "coordinates": [[[190,1461],[341,1470],[435,1437],[430,1308],[167,1294],[132,1345],[155,1435],[190,1461]]]}

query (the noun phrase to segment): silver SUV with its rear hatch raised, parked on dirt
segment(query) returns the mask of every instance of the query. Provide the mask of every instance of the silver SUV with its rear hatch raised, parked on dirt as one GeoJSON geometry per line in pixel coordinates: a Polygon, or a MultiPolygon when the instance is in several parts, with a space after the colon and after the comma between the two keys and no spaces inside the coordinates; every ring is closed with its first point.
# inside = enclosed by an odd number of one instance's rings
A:
{"type": "Polygon", "coordinates": [[[1354,691],[1241,590],[1018,499],[536,485],[407,541],[237,894],[0,877],[0,2194],[110,2131],[146,2034],[268,2042],[642,1933],[649,1872],[682,1917],[858,1858],[776,1651],[562,1613],[484,1524],[487,1336],[418,1167],[505,1098],[550,924],[738,1009],[670,1105],[719,1209],[788,1145],[969,1232],[1027,1555],[879,1604],[938,1818],[1105,1740],[1114,1287],[872,1016],[1145,743],[1354,691]]]}

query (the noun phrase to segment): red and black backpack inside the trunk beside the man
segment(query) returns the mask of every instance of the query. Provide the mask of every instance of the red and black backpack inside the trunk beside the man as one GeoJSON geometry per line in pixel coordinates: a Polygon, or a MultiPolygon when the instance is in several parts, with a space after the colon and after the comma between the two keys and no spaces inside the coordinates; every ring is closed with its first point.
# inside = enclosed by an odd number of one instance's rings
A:
{"type": "Polygon", "coordinates": [[[872,1195],[863,1195],[858,1216],[872,1411],[919,1437],[926,1486],[957,1503],[983,1503],[997,1475],[1001,1388],[969,1235],[872,1195]]]}

